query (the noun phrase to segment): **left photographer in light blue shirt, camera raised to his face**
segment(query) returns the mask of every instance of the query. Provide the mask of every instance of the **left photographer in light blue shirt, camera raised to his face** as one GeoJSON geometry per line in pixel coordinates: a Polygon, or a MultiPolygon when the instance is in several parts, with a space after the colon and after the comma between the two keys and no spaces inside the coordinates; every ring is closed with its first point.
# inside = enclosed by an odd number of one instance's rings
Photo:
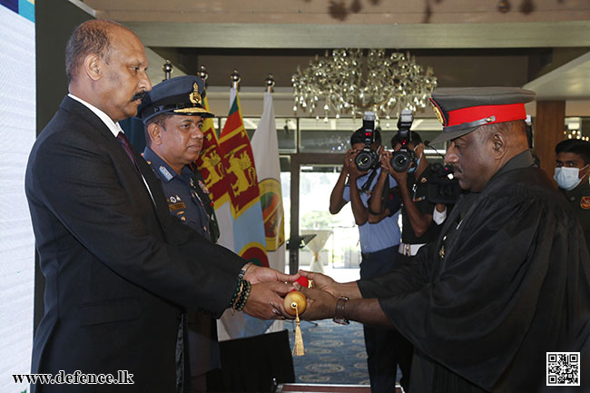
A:
{"type": "MultiPolygon", "coordinates": [[[[373,118],[374,119],[374,118],[373,118]]],[[[363,122],[364,123],[364,122],[363,122]]],[[[360,249],[362,262],[360,263],[360,278],[369,279],[383,276],[393,270],[398,256],[400,231],[398,227],[398,210],[395,203],[384,210],[379,216],[370,214],[368,201],[379,173],[379,156],[377,152],[382,149],[381,136],[378,130],[372,131],[373,125],[369,125],[369,133],[374,135],[372,143],[367,141],[367,127],[362,127],[352,134],[350,138],[351,150],[346,152],[342,165],[342,172],[338,182],[334,186],[329,198],[329,212],[337,214],[349,201],[355,222],[359,225],[360,249]],[[374,164],[369,171],[360,171],[357,167],[359,153],[374,153],[374,164]],[[347,183],[348,179],[348,183],[347,183]]],[[[361,164],[362,166],[362,164],[361,164]]],[[[393,187],[396,182],[391,176],[388,179],[388,187],[393,187]]],[[[382,182],[385,183],[385,180],[382,182]]],[[[367,365],[371,393],[391,393],[395,391],[399,333],[394,329],[380,328],[365,325],[365,346],[367,349],[367,365]]],[[[409,380],[406,374],[402,378],[402,384],[409,380]]]]}

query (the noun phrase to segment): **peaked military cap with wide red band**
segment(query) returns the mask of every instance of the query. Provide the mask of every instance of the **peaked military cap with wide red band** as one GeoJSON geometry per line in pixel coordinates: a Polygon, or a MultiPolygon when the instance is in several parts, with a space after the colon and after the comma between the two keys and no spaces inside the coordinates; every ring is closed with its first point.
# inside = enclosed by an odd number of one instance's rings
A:
{"type": "Polygon", "coordinates": [[[485,124],[525,120],[525,103],[535,92],[518,87],[449,87],[432,93],[430,103],[443,132],[430,144],[451,141],[485,124]]]}

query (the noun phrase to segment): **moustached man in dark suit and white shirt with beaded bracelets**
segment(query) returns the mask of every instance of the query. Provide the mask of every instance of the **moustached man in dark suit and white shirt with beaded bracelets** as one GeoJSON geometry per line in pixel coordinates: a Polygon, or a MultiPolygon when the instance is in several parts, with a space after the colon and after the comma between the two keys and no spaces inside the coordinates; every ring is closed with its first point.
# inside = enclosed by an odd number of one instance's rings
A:
{"type": "Polygon", "coordinates": [[[170,215],[117,123],[151,90],[146,68],[143,44],[122,25],[78,26],[66,46],[70,93],[34,143],[25,180],[46,279],[32,372],[126,370],[119,382],[133,384],[33,392],[187,391],[185,309],[278,318],[270,303],[292,288],[280,282],[292,277],[246,263],[170,215]]]}

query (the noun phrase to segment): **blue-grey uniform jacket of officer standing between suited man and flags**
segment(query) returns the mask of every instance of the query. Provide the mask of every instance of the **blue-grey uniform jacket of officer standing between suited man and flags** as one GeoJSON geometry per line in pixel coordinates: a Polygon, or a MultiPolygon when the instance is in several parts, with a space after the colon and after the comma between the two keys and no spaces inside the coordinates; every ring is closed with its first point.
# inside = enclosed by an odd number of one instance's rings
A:
{"type": "Polygon", "coordinates": [[[182,168],[182,172],[177,174],[170,165],[147,146],[143,151],[143,158],[152,166],[153,172],[161,180],[171,214],[198,231],[206,239],[211,240],[207,212],[203,208],[197,192],[192,190],[191,169],[185,166],[182,168]]]}

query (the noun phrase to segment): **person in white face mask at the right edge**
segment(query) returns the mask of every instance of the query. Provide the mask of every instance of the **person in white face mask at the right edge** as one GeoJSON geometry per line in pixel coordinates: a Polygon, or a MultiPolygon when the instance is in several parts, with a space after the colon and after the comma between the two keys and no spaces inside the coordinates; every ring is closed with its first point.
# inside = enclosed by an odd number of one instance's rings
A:
{"type": "MultiPolygon", "coordinates": [[[[585,242],[590,248],[590,142],[566,139],[556,145],[556,174],[559,190],[575,210],[585,242]]],[[[590,249],[589,249],[590,250],[590,249]]]]}

